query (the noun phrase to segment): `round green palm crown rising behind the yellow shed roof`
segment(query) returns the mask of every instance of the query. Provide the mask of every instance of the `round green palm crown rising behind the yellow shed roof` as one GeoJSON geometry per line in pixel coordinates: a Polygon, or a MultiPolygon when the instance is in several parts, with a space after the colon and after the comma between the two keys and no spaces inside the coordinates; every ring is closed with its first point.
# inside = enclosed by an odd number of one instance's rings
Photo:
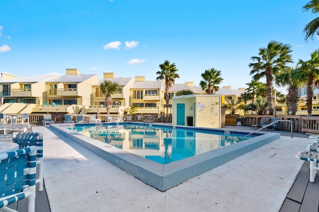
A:
{"type": "Polygon", "coordinates": [[[201,74],[203,80],[199,82],[202,90],[205,90],[207,94],[214,94],[218,89],[220,84],[224,79],[220,76],[221,71],[215,70],[214,68],[206,69],[205,72],[201,74]]]}

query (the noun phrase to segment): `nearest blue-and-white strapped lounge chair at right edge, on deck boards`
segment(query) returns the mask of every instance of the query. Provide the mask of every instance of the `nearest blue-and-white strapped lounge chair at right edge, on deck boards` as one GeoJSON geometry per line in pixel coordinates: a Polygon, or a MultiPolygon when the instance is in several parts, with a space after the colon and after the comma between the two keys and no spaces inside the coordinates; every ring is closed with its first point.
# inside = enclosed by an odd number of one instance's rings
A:
{"type": "Polygon", "coordinates": [[[318,163],[319,163],[319,153],[318,152],[311,152],[311,151],[300,151],[298,152],[295,157],[297,159],[310,161],[310,182],[315,182],[315,178],[317,172],[319,170],[318,163]]]}

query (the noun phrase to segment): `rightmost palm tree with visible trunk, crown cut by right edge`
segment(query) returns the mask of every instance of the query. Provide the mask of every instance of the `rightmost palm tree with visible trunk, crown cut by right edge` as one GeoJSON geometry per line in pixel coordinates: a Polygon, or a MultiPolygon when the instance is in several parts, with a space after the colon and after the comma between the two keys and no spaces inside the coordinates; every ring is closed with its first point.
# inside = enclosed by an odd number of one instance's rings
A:
{"type": "Polygon", "coordinates": [[[319,85],[319,50],[311,55],[308,61],[299,60],[300,68],[294,71],[298,80],[307,85],[307,111],[308,116],[312,116],[314,85],[319,85]]]}

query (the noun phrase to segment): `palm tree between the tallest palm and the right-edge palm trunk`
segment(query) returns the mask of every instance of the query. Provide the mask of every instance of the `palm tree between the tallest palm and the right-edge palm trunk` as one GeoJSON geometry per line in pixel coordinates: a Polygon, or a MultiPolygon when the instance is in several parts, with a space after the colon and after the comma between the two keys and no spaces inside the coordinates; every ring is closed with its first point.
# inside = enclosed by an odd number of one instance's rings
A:
{"type": "Polygon", "coordinates": [[[292,112],[291,115],[296,115],[298,110],[298,98],[299,98],[299,87],[301,86],[300,80],[298,80],[294,75],[294,70],[296,68],[287,68],[284,71],[276,74],[275,83],[278,86],[287,87],[286,104],[287,111],[292,112]]]}

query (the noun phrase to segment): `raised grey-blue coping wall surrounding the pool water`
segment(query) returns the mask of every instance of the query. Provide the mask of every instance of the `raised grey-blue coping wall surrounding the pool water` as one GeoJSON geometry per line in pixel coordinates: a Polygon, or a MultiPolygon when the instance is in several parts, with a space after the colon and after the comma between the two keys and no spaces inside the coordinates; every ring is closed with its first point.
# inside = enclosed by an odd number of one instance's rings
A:
{"type": "MultiPolygon", "coordinates": [[[[98,125],[103,125],[101,123],[98,125]]],[[[108,123],[107,123],[108,124],[108,123]]],[[[126,122],[124,124],[138,124],[135,122],[126,122]]],[[[241,141],[232,145],[224,146],[219,149],[194,155],[189,158],[174,161],[168,164],[160,164],[158,162],[149,160],[147,158],[140,157],[136,154],[127,152],[123,149],[112,146],[108,143],[104,143],[87,136],[72,132],[65,127],[74,126],[75,124],[52,124],[50,128],[62,133],[67,138],[79,143],[88,150],[92,151],[96,155],[109,161],[113,165],[121,168],[127,173],[140,179],[144,183],[160,190],[166,191],[172,187],[175,187],[186,180],[196,177],[202,173],[205,173],[213,168],[216,168],[236,157],[239,157],[247,152],[250,152],[258,147],[261,147],[271,141],[275,141],[280,138],[278,133],[258,133],[258,137],[251,138],[245,141],[241,141]],[[63,126],[63,127],[62,127],[63,126]]],[[[76,125],[88,125],[88,124],[76,124],[76,125]]],[[[95,124],[92,124],[95,125],[95,124]]],[[[172,126],[161,125],[172,128],[183,129],[197,129],[196,127],[187,126],[172,126]]],[[[153,126],[156,126],[153,124],[153,126]]],[[[224,129],[211,129],[211,128],[198,128],[205,130],[217,130],[226,131],[224,129]]],[[[237,131],[231,130],[231,132],[243,132],[249,134],[249,131],[237,131]]],[[[227,135],[227,134],[226,134],[227,135]]]]}

